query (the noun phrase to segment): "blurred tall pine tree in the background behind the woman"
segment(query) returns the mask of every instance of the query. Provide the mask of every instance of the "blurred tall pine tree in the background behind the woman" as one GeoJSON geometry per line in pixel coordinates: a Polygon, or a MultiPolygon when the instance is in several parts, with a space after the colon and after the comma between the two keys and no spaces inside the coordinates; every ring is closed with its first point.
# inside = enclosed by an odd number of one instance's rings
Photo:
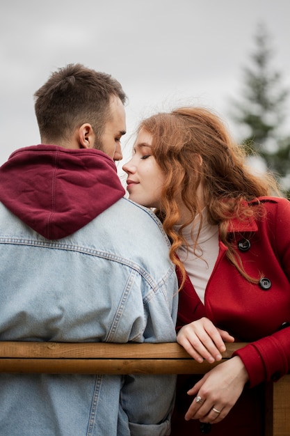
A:
{"type": "Polygon", "coordinates": [[[270,35],[259,24],[255,51],[250,65],[243,68],[243,98],[234,102],[235,123],[245,127],[241,143],[249,155],[259,155],[268,170],[276,174],[284,187],[290,189],[290,137],[283,137],[285,103],[289,91],[282,86],[282,75],[271,65],[273,50],[270,35]]]}

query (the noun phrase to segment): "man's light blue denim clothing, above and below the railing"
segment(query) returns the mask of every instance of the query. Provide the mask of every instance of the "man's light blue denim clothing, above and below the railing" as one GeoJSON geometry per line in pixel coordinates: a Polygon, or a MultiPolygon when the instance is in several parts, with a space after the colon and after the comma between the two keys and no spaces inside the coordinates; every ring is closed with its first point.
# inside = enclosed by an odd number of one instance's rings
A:
{"type": "MultiPolygon", "coordinates": [[[[177,278],[154,214],[122,198],[47,240],[0,203],[0,340],[176,340],[177,278]]],[[[0,375],[0,435],[161,436],[175,375],[0,375]]]]}

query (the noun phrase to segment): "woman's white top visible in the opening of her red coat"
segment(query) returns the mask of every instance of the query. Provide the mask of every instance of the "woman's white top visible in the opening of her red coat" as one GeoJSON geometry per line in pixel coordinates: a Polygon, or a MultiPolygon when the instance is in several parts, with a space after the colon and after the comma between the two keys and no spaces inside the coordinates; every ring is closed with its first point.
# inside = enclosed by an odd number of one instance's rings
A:
{"type": "MultiPolygon", "coordinates": [[[[204,293],[211,272],[218,258],[218,226],[212,226],[207,221],[207,208],[202,210],[202,228],[198,238],[198,247],[193,252],[194,241],[198,233],[200,215],[182,230],[182,235],[188,242],[188,247],[182,245],[177,249],[177,256],[182,260],[193,287],[204,303],[204,293]]],[[[175,226],[178,231],[181,226],[175,226]]]]}

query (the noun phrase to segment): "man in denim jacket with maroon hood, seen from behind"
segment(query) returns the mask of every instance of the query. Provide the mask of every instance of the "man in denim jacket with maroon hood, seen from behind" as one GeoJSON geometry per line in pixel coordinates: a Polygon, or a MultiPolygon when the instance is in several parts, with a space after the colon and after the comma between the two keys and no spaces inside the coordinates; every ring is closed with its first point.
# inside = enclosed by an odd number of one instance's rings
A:
{"type": "MultiPolygon", "coordinates": [[[[126,96],[83,65],[35,93],[41,144],[0,169],[0,340],[175,341],[159,221],[124,198],[126,96]]],[[[0,434],[168,435],[171,375],[0,375],[0,434]]]]}

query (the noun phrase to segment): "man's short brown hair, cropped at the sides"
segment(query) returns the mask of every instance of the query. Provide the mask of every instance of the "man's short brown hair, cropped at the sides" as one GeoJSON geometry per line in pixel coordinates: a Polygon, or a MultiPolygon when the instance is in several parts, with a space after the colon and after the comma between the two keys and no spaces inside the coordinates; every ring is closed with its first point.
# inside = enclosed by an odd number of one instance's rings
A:
{"type": "Polygon", "coordinates": [[[74,130],[90,123],[100,137],[110,116],[112,95],[123,104],[127,100],[122,86],[111,75],[80,63],[59,68],[34,94],[40,136],[57,143],[70,139],[74,130]]]}

